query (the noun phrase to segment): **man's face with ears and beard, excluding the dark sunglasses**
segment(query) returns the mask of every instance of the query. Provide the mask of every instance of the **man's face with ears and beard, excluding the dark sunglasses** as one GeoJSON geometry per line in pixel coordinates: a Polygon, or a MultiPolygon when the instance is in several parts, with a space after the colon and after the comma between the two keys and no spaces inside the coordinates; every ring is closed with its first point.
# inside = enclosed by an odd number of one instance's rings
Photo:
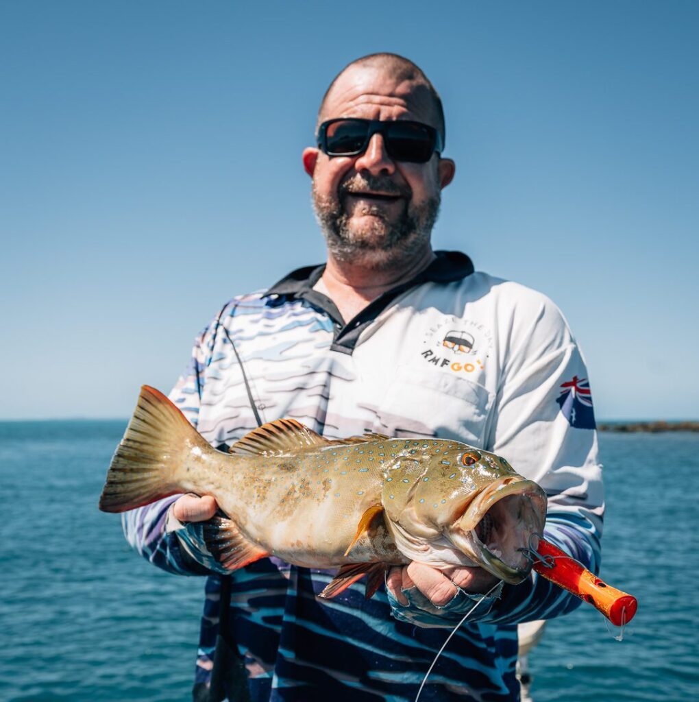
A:
{"type": "MultiPolygon", "coordinates": [[[[398,81],[378,67],[352,67],[342,74],[321,121],[335,117],[438,126],[425,86],[398,81]]],[[[380,134],[358,156],[328,157],[308,148],[303,161],[313,178],[317,218],[335,258],[384,268],[429,251],[440,190],[453,177],[453,161],[437,154],[425,164],[394,161],[380,134]]]]}

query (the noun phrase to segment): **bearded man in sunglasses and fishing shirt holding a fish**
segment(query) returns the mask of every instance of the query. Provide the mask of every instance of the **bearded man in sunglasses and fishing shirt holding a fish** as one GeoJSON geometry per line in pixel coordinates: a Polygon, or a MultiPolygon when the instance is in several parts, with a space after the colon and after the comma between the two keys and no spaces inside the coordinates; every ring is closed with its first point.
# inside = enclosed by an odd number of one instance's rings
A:
{"type": "MultiPolygon", "coordinates": [[[[321,104],[318,145],[302,157],[326,265],[227,303],[171,397],[222,449],[293,417],[331,438],[453,437],[495,451],[547,491],[546,538],[597,569],[601,476],[583,359],[550,300],[474,272],[461,253],[432,251],[455,173],[443,148],[441,102],[417,66],[376,54],[346,67],[321,104]]],[[[168,498],[129,513],[126,533],[164,569],[224,573],[198,527],[216,506],[168,498]]],[[[578,604],[536,574],[503,586],[479,568],[394,567],[388,592],[368,601],[357,586],[319,600],[330,578],[274,558],[234,572],[224,625],[254,701],[413,700],[444,628],[479,602],[421,699],[517,699],[516,623],[578,604]]],[[[200,691],[219,588],[209,578],[200,691]]]]}

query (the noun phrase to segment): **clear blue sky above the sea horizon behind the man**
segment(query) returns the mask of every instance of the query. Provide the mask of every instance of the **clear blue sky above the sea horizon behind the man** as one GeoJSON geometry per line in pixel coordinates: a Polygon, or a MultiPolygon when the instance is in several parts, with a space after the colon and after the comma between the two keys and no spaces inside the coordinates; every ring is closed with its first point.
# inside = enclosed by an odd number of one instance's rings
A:
{"type": "Polygon", "coordinates": [[[598,418],[699,418],[698,28],[682,0],[4,2],[0,418],[126,417],[225,300],[321,262],[300,152],[374,51],[444,100],[435,247],[557,302],[598,418]]]}

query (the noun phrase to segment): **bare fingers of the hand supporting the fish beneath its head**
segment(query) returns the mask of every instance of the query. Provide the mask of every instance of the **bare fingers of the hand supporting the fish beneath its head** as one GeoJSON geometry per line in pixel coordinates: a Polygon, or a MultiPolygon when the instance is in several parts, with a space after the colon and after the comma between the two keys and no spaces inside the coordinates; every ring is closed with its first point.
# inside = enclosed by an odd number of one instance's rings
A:
{"type": "Polygon", "coordinates": [[[406,566],[392,567],[386,578],[387,588],[401,604],[408,604],[401,590],[418,588],[436,607],[444,607],[453,600],[458,592],[457,585],[465,592],[482,594],[488,592],[495,583],[498,583],[498,578],[482,568],[453,566],[437,570],[416,561],[406,566]]]}

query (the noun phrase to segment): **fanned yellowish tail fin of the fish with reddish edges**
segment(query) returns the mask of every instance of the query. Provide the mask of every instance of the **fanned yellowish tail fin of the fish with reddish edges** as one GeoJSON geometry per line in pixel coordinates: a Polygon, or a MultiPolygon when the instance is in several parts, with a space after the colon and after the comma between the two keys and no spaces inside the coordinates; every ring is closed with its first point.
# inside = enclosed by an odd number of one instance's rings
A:
{"type": "Polygon", "coordinates": [[[193,445],[211,450],[162,392],[143,385],[109,465],[100,510],[126,512],[181,492],[176,473],[193,445]]]}

